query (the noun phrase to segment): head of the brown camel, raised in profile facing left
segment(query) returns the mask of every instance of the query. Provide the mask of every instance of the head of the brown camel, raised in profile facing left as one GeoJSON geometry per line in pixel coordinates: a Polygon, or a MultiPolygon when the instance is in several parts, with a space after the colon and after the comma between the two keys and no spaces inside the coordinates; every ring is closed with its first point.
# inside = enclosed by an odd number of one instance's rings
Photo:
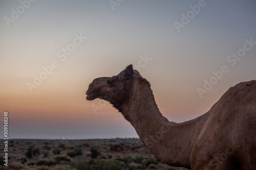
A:
{"type": "Polygon", "coordinates": [[[136,77],[141,77],[139,71],[133,69],[133,65],[127,66],[117,76],[100,77],[89,84],[87,100],[102,99],[109,101],[119,111],[123,102],[128,99],[132,82],[136,77]]]}

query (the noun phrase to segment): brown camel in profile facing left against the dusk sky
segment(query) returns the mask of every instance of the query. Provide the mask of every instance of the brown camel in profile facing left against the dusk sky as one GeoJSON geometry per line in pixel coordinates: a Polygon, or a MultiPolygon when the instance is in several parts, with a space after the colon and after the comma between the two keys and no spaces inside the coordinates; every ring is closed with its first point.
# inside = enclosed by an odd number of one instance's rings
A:
{"type": "Polygon", "coordinates": [[[256,81],[230,87],[205,114],[183,123],[159,111],[150,83],[133,65],[117,76],[94,79],[87,100],[109,101],[140,140],[170,166],[188,169],[256,169],[256,81]]]}

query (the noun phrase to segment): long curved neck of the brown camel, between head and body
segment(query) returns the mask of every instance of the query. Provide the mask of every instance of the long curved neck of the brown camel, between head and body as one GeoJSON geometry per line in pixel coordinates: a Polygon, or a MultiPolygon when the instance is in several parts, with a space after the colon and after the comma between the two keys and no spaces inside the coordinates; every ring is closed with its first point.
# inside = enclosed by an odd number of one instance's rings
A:
{"type": "Polygon", "coordinates": [[[124,117],[135,128],[147,149],[171,166],[190,168],[190,155],[206,114],[184,123],[169,122],[159,111],[150,84],[143,78],[134,83],[124,117]]]}

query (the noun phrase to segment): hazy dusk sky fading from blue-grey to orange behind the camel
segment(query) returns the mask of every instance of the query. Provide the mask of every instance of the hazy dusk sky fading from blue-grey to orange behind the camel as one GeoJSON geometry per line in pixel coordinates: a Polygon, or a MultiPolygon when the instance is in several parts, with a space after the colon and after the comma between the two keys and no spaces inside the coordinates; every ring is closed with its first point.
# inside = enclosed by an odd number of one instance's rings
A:
{"type": "Polygon", "coordinates": [[[151,83],[161,113],[184,122],[231,86],[256,79],[256,2],[1,1],[0,137],[138,137],[93,79],[127,65],[151,83]],[[95,107],[97,109],[95,109],[95,107]]]}

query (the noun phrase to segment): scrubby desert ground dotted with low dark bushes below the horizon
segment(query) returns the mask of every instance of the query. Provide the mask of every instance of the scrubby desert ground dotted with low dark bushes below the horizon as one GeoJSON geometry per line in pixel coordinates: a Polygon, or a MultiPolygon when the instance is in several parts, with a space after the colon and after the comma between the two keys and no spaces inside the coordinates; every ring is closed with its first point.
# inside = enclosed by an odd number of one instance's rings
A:
{"type": "Polygon", "coordinates": [[[152,155],[138,138],[46,140],[9,139],[8,166],[2,169],[180,169],[171,167],[152,155]]]}

